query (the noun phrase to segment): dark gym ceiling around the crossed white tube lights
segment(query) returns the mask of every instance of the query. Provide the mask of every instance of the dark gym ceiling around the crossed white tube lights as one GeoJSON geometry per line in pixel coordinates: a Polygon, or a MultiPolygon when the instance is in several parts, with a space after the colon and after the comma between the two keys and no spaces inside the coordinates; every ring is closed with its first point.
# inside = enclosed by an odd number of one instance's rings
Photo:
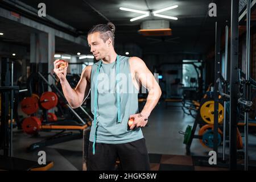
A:
{"type": "MultiPolygon", "coordinates": [[[[218,3],[217,15],[230,20],[229,1],[209,0],[20,0],[26,5],[38,9],[38,4],[46,4],[46,14],[52,16],[75,28],[70,32],[75,36],[85,36],[89,29],[100,23],[111,21],[116,26],[115,42],[119,44],[134,43],[142,48],[143,53],[170,54],[191,53],[205,54],[214,46],[215,20],[208,16],[209,3],[218,3]],[[119,10],[119,7],[127,7],[141,11],[155,11],[164,7],[178,5],[176,9],[164,11],[163,15],[176,16],[177,20],[148,16],[143,19],[130,22],[131,18],[139,16],[138,13],[119,10]],[[222,14],[220,13],[222,12],[222,14]],[[170,22],[171,36],[147,37],[138,33],[144,20],[164,19],[170,22]],[[154,39],[154,40],[153,40],[154,39]]],[[[13,5],[0,1],[0,7],[16,10],[13,5]]],[[[36,18],[36,17],[34,17],[36,18]]],[[[40,18],[36,18],[40,22],[40,18]]],[[[30,27],[0,18],[1,29],[8,32],[3,42],[22,44],[29,47],[30,27]]],[[[58,26],[58,25],[53,25],[58,26]]],[[[60,28],[61,27],[57,27],[60,28]]],[[[63,29],[64,30],[64,29],[63,29]]],[[[65,31],[65,30],[64,30],[65,31]]],[[[80,46],[67,40],[56,38],[56,51],[76,54],[77,52],[89,53],[89,48],[80,46]]]]}

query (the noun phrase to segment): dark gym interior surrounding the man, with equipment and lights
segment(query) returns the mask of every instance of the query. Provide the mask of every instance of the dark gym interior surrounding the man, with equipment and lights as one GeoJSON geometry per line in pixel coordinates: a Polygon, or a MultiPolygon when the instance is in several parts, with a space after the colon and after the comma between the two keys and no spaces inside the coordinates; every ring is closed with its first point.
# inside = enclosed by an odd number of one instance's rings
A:
{"type": "Polygon", "coordinates": [[[68,63],[75,90],[99,61],[88,31],[108,22],[117,55],[143,60],[162,91],[141,127],[150,170],[255,170],[255,21],[255,0],[0,1],[0,170],[88,169],[94,92],[73,107],[53,69],[68,63]]]}

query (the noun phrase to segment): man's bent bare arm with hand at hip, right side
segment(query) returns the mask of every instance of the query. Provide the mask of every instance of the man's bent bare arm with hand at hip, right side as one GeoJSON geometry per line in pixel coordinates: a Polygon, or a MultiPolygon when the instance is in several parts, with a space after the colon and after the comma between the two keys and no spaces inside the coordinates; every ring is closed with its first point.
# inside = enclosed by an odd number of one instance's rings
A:
{"type": "Polygon", "coordinates": [[[130,118],[134,118],[133,125],[130,126],[130,129],[132,130],[134,127],[146,126],[147,119],[156,104],[158,104],[162,91],[158,82],[155,80],[154,75],[147,68],[144,61],[139,57],[131,57],[130,59],[136,79],[148,90],[147,101],[141,113],[130,115],[130,118]]]}

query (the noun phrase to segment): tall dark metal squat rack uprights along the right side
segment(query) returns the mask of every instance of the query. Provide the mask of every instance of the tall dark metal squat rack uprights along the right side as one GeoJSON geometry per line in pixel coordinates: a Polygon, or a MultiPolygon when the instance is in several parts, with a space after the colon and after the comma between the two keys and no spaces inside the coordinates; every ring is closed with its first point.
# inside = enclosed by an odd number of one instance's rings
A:
{"type": "MultiPolygon", "coordinates": [[[[230,114],[229,114],[229,169],[237,170],[237,122],[238,122],[238,104],[245,106],[245,144],[244,144],[244,170],[248,170],[248,112],[250,110],[250,105],[252,102],[249,101],[249,86],[250,86],[250,7],[251,2],[247,0],[247,21],[246,21],[246,73],[245,80],[240,82],[238,79],[238,16],[239,16],[239,0],[232,0],[231,6],[231,38],[230,38],[230,95],[227,93],[227,65],[228,65],[228,26],[226,26],[226,45],[225,45],[225,78],[224,78],[224,96],[226,99],[230,100],[230,114]],[[245,85],[245,96],[242,98],[238,96],[239,84],[245,85]]],[[[217,31],[217,29],[216,29],[217,31]]],[[[217,35],[217,33],[216,33],[217,35]]],[[[217,36],[216,36],[217,38],[217,36]]],[[[216,39],[217,42],[217,39],[216,39]]],[[[217,44],[217,43],[216,43],[217,44]]],[[[216,48],[216,54],[218,48],[216,48]]],[[[217,59],[216,59],[217,60],[217,59]]],[[[217,64],[217,63],[216,63],[217,64]]],[[[219,70],[215,70],[215,74],[219,73],[219,70]]],[[[216,84],[216,83],[215,83],[216,84]]],[[[214,90],[218,90],[217,86],[214,90]]],[[[215,94],[214,94],[215,96],[215,94]]],[[[214,97],[214,101],[215,100],[214,97]]],[[[215,103],[214,102],[214,103],[215,103]]],[[[214,105],[214,140],[215,132],[217,131],[217,113],[215,111],[214,105]],[[216,121],[215,121],[216,120],[216,121]]],[[[225,113],[225,112],[224,112],[225,113]]],[[[226,114],[226,113],[225,113],[226,114]]],[[[226,124],[226,117],[224,118],[224,127],[226,124]]],[[[225,159],[225,128],[224,128],[224,146],[223,146],[223,159],[225,159]]],[[[214,142],[215,143],[215,142],[214,142]]],[[[214,148],[216,151],[216,148],[214,148]]]]}

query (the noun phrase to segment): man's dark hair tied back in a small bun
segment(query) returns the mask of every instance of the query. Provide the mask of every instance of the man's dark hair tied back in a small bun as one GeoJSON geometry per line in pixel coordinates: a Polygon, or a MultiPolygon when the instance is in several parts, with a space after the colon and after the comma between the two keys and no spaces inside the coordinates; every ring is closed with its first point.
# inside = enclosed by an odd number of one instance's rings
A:
{"type": "Polygon", "coordinates": [[[113,23],[109,22],[108,24],[97,24],[96,26],[93,26],[89,32],[88,35],[93,34],[94,32],[100,32],[101,39],[106,42],[109,38],[112,39],[112,44],[114,46],[114,32],[115,32],[115,26],[113,23]]]}

